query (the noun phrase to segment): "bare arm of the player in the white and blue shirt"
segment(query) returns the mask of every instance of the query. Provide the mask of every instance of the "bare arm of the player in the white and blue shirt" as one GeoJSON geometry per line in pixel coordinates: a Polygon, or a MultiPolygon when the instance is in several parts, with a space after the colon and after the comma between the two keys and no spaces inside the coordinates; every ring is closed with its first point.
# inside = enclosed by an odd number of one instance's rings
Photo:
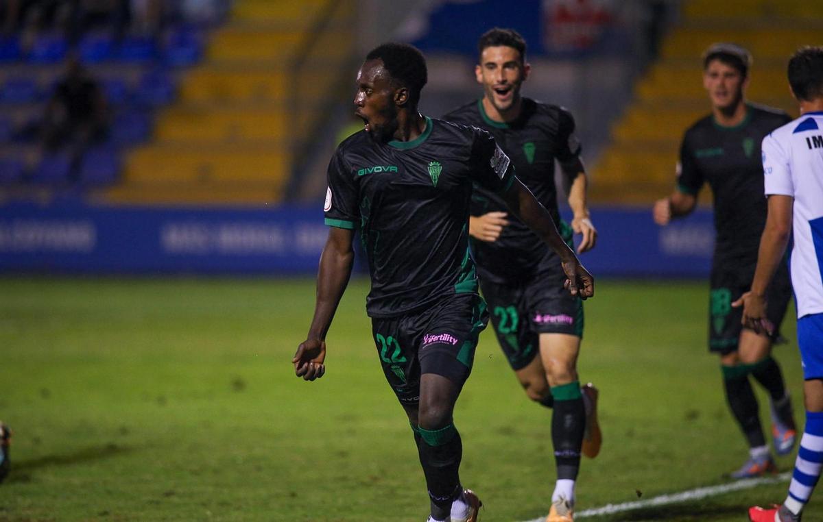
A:
{"type": "Polygon", "coordinates": [[[792,235],[793,206],[792,196],[769,196],[769,213],[760,236],[755,279],[751,281],[751,290],[732,303],[732,307],[743,307],[742,325],[758,334],[774,331],[774,325],[766,316],[765,294],[774,272],[783,262],[783,254],[792,235]]]}

